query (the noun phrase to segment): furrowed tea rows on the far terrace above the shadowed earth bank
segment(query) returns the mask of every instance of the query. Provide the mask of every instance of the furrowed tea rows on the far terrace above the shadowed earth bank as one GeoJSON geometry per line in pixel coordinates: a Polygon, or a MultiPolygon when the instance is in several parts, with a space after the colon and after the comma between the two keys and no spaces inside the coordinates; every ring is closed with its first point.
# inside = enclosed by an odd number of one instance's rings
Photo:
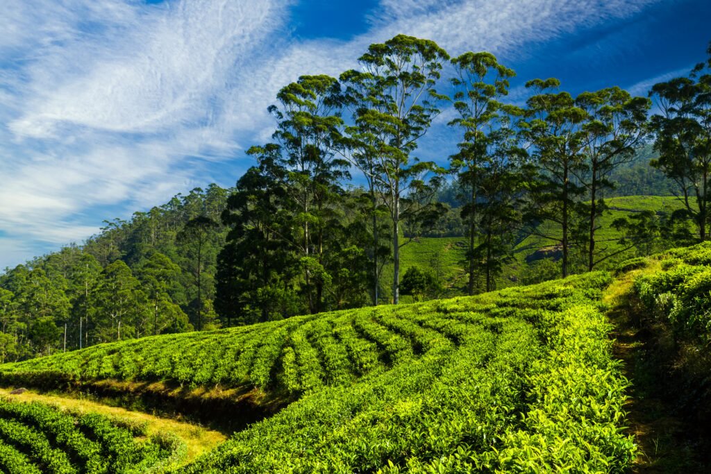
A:
{"type": "Polygon", "coordinates": [[[488,306],[441,318],[437,308],[366,308],[212,333],[131,340],[5,365],[4,384],[46,386],[101,379],[192,386],[248,385],[298,395],[386,370],[481,330],[488,306]]]}

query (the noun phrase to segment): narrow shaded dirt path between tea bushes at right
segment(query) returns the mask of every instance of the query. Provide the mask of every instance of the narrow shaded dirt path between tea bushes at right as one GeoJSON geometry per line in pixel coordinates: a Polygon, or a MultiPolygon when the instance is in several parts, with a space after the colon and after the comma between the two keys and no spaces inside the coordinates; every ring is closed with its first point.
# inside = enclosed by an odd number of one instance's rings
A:
{"type": "MultiPolygon", "coordinates": [[[[606,291],[604,300],[615,331],[614,355],[623,362],[624,376],[629,379],[629,400],[625,406],[627,432],[634,435],[639,447],[634,473],[693,474],[711,473],[709,446],[690,437],[694,430],[675,413],[675,406],[665,394],[663,367],[653,360],[653,340],[648,330],[636,324],[635,306],[631,300],[634,276],[631,272],[617,280],[606,291]]],[[[668,388],[668,387],[667,387],[668,388]]]]}

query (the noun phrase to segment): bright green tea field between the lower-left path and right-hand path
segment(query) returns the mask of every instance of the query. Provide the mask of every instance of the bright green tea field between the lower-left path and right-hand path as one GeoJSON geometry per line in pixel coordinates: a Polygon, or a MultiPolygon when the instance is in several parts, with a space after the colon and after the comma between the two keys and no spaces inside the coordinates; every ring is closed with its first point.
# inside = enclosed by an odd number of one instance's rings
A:
{"type": "MultiPolygon", "coordinates": [[[[609,281],[594,273],[475,297],[98,345],[0,366],[0,379],[75,393],[108,382],[127,391],[156,383],[193,393],[231,388],[252,404],[233,418],[276,410],[184,472],[622,469],[635,448],[621,431],[624,381],[599,311],[609,281]],[[587,401],[576,404],[577,397],[587,401]]],[[[21,400],[4,403],[20,411],[21,400]]],[[[41,463],[26,445],[0,439],[12,456],[41,463]]],[[[55,448],[64,449],[58,440],[55,448]]]]}

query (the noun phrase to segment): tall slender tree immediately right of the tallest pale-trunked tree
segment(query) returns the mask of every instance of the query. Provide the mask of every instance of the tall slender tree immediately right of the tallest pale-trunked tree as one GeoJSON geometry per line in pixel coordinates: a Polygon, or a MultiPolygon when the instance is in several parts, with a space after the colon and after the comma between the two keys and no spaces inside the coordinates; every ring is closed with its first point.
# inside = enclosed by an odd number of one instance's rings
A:
{"type": "MultiPolygon", "coordinates": [[[[449,122],[463,131],[463,140],[459,143],[459,153],[450,157],[451,170],[457,173],[459,188],[466,193],[461,195],[464,206],[461,217],[466,220],[469,247],[467,249],[467,274],[469,283],[467,292],[474,294],[476,278],[476,252],[478,237],[477,200],[481,197],[481,175],[486,172],[488,161],[496,149],[496,131],[506,120],[507,107],[500,102],[508,95],[508,79],[513,77],[513,70],[500,65],[491,53],[464,53],[451,60],[456,71],[451,78],[454,85],[454,109],[459,117],[449,122]],[[503,114],[502,114],[503,112],[503,114]]],[[[488,237],[491,240],[491,236],[488,237]]],[[[488,246],[491,247],[491,246],[488,246]]],[[[489,275],[487,271],[487,275],[489,275]]],[[[489,278],[487,277],[487,288],[489,278]]]]}

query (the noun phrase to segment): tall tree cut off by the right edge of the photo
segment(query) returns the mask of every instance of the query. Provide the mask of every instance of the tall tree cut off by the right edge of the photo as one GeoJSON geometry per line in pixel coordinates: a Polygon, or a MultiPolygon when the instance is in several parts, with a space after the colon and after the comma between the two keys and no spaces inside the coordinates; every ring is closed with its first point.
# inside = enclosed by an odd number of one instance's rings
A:
{"type": "Polygon", "coordinates": [[[676,183],[702,241],[711,198],[711,45],[708,52],[707,63],[696,65],[689,77],[660,82],[649,92],[661,110],[650,119],[659,153],[651,165],[676,183]]]}

